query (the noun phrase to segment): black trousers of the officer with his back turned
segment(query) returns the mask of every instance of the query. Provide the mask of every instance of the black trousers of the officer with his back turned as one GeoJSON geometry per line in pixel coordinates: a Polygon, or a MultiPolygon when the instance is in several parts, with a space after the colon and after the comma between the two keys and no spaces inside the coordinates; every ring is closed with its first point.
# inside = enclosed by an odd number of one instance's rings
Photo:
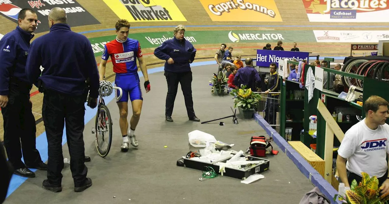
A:
{"type": "Polygon", "coordinates": [[[44,90],[42,117],[46,128],[48,155],[47,179],[61,185],[63,169],[62,135],[66,124],[66,138],[70,153],[70,170],[75,187],[86,180],[88,168],[84,164],[84,96],[71,96],[44,90]]]}

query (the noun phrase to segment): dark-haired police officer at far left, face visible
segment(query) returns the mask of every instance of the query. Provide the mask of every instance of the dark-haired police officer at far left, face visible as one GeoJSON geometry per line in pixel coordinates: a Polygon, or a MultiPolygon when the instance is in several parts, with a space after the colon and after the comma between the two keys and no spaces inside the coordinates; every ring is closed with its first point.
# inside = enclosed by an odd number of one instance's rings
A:
{"type": "Polygon", "coordinates": [[[25,74],[30,40],[37,27],[37,14],[22,9],[16,29],[0,40],[0,106],[4,119],[4,146],[14,174],[35,177],[28,168],[46,170],[36,149],[36,126],[30,101],[30,83],[25,74]],[[22,152],[25,164],[23,164],[22,152]]]}

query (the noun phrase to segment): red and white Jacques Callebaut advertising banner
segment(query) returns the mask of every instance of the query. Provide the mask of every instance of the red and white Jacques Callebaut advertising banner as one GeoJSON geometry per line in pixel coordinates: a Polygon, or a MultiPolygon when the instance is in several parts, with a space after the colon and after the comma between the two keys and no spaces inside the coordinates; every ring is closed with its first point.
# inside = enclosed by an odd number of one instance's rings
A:
{"type": "Polygon", "coordinates": [[[302,0],[310,22],[389,22],[387,0],[302,0]]]}

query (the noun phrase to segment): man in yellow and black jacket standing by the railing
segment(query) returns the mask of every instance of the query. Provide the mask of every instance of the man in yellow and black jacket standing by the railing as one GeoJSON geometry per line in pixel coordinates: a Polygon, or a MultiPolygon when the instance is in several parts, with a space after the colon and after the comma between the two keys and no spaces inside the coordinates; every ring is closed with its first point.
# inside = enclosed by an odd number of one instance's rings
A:
{"type": "Polygon", "coordinates": [[[268,94],[267,96],[268,98],[266,99],[266,103],[265,103],[265,120],[270,125],[275,125],[277,112],[278,112],[278,98],[280,94],[279,93],[269,94],[269,92],[279,92],[280,80],[279,80],[279,75],[276,72],[277,64],[271,63],[269,68],[270,68],[270,76],[267,80],[265,79],[265,83],[268,85],[268,90],[265,91],[265,94],[268,94]]]}

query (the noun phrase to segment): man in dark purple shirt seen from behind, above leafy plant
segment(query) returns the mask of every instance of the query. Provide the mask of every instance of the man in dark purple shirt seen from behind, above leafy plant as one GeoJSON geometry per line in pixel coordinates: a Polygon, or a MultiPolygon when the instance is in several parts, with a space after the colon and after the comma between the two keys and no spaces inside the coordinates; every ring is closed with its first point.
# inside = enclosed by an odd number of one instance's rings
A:
{"type": "Polygon", "coordinates": [[[246,85],[246,89],[251,88],[251,91],[257,91],[261,87],[261,77],[258,71],[254,68],[251,58],[245,59],[246,66],[240,68],[234,78],[234,85],[240,87],[241,84],[246,85]]]}

